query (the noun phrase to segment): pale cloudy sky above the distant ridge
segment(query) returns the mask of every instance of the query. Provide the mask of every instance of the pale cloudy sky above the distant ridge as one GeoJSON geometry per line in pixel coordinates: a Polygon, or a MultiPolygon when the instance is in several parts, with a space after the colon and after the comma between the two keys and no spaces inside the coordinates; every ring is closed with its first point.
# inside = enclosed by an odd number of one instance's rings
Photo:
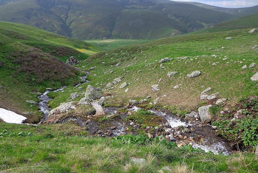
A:
{"type": "Polygon", "coordinates": [[[189,1],[189,2],[201,2],[217,7],[252,7],[258,5],[258,0],[174,0],[174,1],[189,1]]]}

